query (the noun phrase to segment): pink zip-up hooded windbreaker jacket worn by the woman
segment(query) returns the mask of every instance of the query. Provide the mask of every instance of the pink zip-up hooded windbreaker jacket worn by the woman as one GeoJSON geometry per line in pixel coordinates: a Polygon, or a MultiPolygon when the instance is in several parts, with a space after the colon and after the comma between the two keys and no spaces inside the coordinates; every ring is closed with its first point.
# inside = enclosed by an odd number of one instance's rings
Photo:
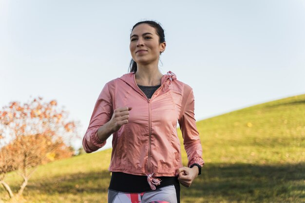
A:
{"type": "Polygon", "coordinates": [[[118,107],[132,107],[129,123],[113,133],[110,171],[133,175],[175,176],[182,167],[177,121],[188,155],[188,166],[203,166],[202,148],[194,119],[194,96],[190,86],[163,75],[161,87],[151,99],[138,88],[134,73],[108,82],[100,93],[83,138],[87,153],[105,145],[97,129],[107,123],[118,107]]]}

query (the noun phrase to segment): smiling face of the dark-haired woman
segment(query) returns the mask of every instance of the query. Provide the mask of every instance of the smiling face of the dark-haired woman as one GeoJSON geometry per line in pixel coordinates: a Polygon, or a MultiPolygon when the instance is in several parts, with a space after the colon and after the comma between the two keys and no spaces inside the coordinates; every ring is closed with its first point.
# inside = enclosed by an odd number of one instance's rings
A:
{"type": "Polygon", "coordinates": [[[143,23],[133,28],[129,48],[137,64],[158,64],[160,52],[165,50],[165,42],[160,44],[156,30],[143,23]]]}

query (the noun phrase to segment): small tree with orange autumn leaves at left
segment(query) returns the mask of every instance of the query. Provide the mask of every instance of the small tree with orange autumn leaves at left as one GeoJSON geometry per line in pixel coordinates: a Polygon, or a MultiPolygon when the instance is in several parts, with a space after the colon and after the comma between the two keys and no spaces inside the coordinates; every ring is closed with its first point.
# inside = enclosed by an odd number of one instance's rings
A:
{"type": "Polygon", "coordinates": [[[57,108],[57,102],[37,98],[30,103],[11,102],[0,111],[0,184],[10,198],[19,198],[37,166],[72,156],[68,145],[78,138],[74,121],[57,108]],[[14,195],[4,178],[17,170],[23,178],[14,195]]]}

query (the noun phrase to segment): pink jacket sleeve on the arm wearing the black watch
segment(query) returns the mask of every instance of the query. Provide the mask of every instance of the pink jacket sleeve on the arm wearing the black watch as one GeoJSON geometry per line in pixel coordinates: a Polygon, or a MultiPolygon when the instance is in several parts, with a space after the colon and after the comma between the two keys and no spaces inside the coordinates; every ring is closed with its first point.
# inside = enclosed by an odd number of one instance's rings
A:
{"type": "Polygon", "coordinates": [[[182,98],[178,123],[183,136],[184,148],[188,155],[188,167],[193,164],[204,165],[199,132],[194,118],[194,94],[190,86],[186,86],[182,98]]]}

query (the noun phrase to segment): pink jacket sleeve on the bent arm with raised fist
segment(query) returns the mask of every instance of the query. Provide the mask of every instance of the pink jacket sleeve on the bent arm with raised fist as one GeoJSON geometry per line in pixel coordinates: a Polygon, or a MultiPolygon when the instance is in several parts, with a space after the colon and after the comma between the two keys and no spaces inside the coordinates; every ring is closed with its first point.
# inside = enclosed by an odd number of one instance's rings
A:
{"type": "Polygon", "coordinates": [[[109,91],[108,83],[99,94],[89,122],[89,127],[83,138],[83,148],[87,153],[102,148],[106,141],[101,141],[97,137],[97,130],[100,126],[107,123],[113,114],[112,96],[109,91]]]}

